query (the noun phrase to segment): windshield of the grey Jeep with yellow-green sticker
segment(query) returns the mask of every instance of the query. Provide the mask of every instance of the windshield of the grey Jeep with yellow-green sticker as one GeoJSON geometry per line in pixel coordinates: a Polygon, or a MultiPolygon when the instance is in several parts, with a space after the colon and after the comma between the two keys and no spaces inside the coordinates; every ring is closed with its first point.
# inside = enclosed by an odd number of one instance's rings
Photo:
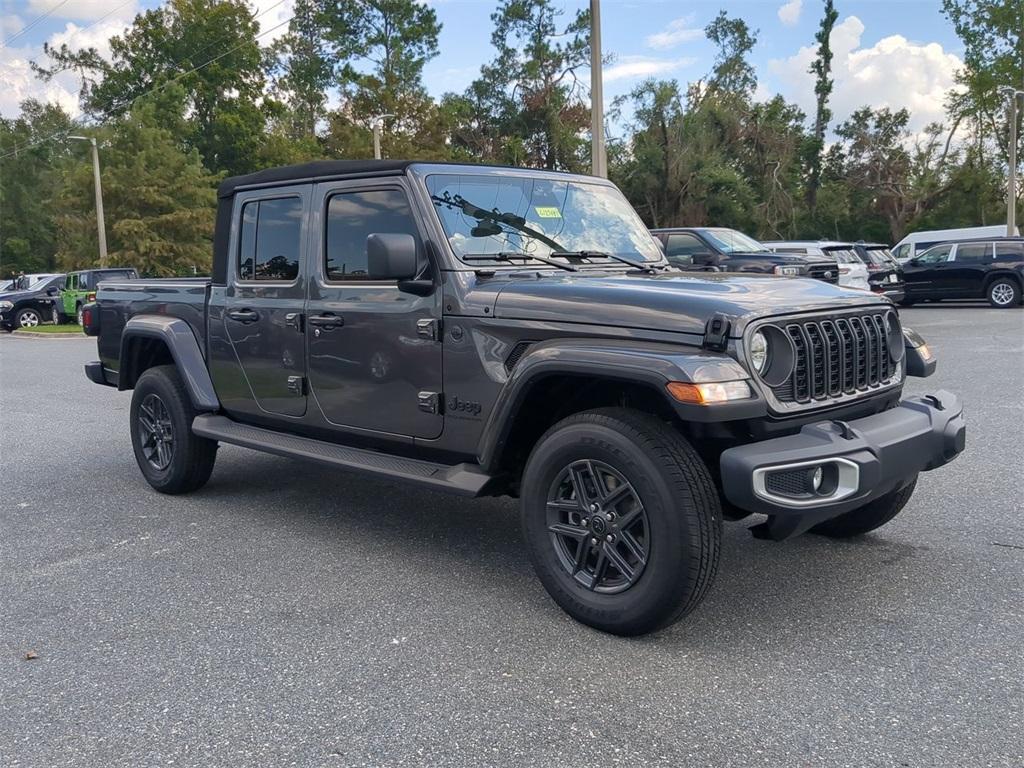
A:
{"type": "MultiPolygon", "coordinates": [[[[660,261],[662,249],[617,189],[584,181],[435,174],[426,179],[434,210],[460,258],[603,251],[660,261]]],[[[605,262],[606,263],[606,262],[605,262]]]]}

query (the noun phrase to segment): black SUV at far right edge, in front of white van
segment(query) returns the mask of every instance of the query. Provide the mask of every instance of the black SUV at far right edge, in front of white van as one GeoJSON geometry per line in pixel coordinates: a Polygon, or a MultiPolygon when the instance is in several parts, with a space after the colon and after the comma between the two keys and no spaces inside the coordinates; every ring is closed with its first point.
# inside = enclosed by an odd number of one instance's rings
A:
{"type": "Polygon", "coordinates": [[[903,265],[903,304],[988,299],[998,309],[1021,305],[1024,238],[986,238],[932,246],[903,265]]]}

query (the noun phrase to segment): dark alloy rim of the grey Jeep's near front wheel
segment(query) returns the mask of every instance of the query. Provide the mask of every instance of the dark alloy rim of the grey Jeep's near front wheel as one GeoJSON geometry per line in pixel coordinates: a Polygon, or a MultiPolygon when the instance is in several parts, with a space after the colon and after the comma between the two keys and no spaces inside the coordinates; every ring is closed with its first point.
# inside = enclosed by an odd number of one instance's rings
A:
{"type": "Polygon", "coordinates": [[[565,572],[593,592],[632,587],[647,564],[650,523],[615,469],[585,459],[564,467],[548,492],[548,530],[565,572]]]}

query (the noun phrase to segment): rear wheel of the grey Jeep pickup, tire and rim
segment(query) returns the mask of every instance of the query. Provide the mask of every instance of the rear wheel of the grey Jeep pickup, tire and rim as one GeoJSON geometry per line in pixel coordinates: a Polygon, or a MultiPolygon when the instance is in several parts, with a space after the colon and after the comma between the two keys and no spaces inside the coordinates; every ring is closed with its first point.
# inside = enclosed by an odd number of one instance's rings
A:
{"type": "Polygon", "coordinates": [[[186,494],[210,479],[217,442],[191,431],[196,410],[174,366],[146,370],[131,398],[131,442],[142,476],[162,494],[186,494]]]}

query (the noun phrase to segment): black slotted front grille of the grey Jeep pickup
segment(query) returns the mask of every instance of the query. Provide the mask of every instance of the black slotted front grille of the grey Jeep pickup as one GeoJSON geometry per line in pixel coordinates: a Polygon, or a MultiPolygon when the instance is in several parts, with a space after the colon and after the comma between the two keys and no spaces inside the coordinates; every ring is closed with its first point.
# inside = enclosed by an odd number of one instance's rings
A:
{"type": "MultiPolygon", "coordinates": [[[[892,322],[895,319],[895,315],[892,322]]],[[[776,324],[793,341],[793,374],[772,393],[780,402],[823,404],[890,383],[899,362],[889,353],[886,312],[776,324]]]]}

